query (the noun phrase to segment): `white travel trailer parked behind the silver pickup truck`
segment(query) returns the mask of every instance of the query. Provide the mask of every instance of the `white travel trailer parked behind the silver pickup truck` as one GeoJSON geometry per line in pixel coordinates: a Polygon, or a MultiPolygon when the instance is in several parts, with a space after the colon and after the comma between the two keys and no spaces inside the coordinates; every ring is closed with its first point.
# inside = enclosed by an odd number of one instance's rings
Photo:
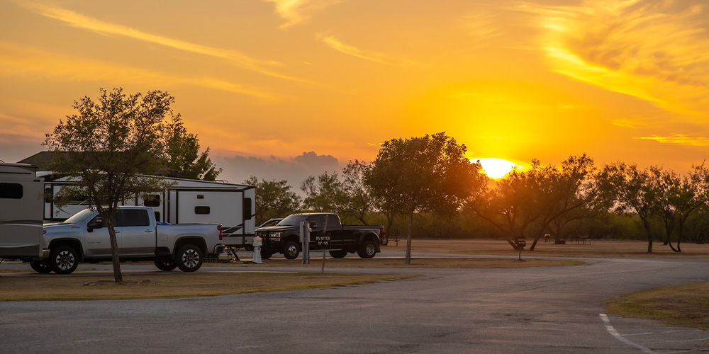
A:
{"type": "MultiPolygon", "coordinates": [[[[158,222],[170,224],[222,224],[223,244],[250,248],[256,229],[256,188],[252,185],[165,178],[172,187],[160,193],[139,195],[125,200],[124,205],[152,207],[158,222]]],[[[76,200],[59,207],[52,196],[67,178],[45,182],[45,222],[60,222],[89,206],[88,200],[76,200]]]]}

